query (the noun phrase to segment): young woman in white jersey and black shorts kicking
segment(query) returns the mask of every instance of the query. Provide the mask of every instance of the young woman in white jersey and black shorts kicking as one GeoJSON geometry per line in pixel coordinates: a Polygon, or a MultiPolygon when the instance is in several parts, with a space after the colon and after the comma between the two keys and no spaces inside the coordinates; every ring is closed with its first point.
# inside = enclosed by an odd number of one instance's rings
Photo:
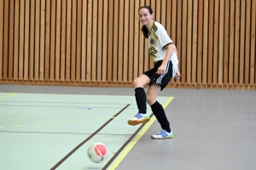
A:
{"type": "Polygon", "coordinates": [[[150,59],[154,62],[154,68],[145,71],[143,75],[133,81],[135,98],[137,101],[138,113],[128,121],[128,124],[135,126],[150,120],[147,114],[147,105],[150,105],[154,116],[160,122],[162,130],[151,136],[152,139],[172,139],[173,133],[166,113],[156,100],[168,82],[175,77],[180,77],[177,68],[177,49],[168,36],[166,29],[160,23],[153,20],[154,14],[149,6],[142,6],[138,9],[139,19],[143,24],[143,35],[148,38],[150,59]],[[145,94],[144,86],[149,84],[148,92],[145,94]]]}

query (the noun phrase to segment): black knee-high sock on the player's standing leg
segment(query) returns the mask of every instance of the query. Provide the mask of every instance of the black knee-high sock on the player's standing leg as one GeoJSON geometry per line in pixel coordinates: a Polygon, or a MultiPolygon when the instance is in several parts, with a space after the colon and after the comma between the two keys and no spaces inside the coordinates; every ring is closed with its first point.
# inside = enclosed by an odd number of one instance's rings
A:
{"type": "Polygon", "coordinates": [[[167,120],[163,106],[160,105],[158,101],[156,101],[153,105],[150,106],[157,121],[160,122],[160,126],[162,127],[162,129],[166,130],[168,133],[171,133],[170,123],[167,120]]]}

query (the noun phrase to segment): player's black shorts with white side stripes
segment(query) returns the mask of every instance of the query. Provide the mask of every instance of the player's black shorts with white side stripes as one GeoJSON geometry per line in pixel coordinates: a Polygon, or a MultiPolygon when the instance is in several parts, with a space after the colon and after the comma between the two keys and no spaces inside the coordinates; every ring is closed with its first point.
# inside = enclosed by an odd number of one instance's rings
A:
{"type": "Polygon", "coordinates": [[[166,85],[171,81],[172,79],[172,61],[168,61],[166,65],[166,72],[163,75],[159,75],[156,73],[157,69],[162,64],[163,60],[157,61],[154,64],[154,68],[150,69],[148,71],[145,71],[143,74],[149,77],[150,82],[149,86],[153,83],[160,84],[161,91],[166,88],[166,85]]]}

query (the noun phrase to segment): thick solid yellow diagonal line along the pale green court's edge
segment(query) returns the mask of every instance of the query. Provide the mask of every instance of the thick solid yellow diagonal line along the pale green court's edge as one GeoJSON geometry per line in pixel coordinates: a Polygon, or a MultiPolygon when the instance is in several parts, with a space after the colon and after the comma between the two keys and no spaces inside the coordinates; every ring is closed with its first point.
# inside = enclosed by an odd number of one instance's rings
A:
{"type": "MultiPolygon", "coordinates": [[[[167,105],[169,105],[172,101],[172,99],[174,99],[174,97],[171,97],[170,99],[168,99],[166,101],[166,104],[163,105],[164,109],[166,109],[167,105]]],[[[143,127],[143,130],[137,134],[137,136],[131,141],[131,143],[126,147],[126,149],[123,151],[123,153],[118,157],[118,159],[116,161],[113,162],[113,165],[111,167],[109,167],[109,169],[115,169],[116,167],[119,166],[119,163],[125,158],[125,156],[129,153],[129,151],[132,149],[132,147],[137,143],[137,141],[139,139],[142,138],[143,134],[146,133],[146,131],[148,130],[148,128],[153,124],[153,122],[155,121],[155,116],[152,116],[152,118],[150,119],[150,121],[146,124],[145,127],[143,127]]]]}

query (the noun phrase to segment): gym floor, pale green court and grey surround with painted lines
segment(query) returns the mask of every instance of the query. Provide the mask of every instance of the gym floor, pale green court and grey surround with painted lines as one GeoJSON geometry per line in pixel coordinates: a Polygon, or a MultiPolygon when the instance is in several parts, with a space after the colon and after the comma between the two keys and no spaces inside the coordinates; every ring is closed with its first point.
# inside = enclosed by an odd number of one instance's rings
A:
{"type": "Polygon", "coordinates": [[[154,116],[127,124],[133,88],[0,85],[0,170],[256,167],[256,91],[166,88],[158,101],[173,139],[150,138],[154,116]],[[102,163],[87,157],[95,142],[108,147],[102,163]]]}

